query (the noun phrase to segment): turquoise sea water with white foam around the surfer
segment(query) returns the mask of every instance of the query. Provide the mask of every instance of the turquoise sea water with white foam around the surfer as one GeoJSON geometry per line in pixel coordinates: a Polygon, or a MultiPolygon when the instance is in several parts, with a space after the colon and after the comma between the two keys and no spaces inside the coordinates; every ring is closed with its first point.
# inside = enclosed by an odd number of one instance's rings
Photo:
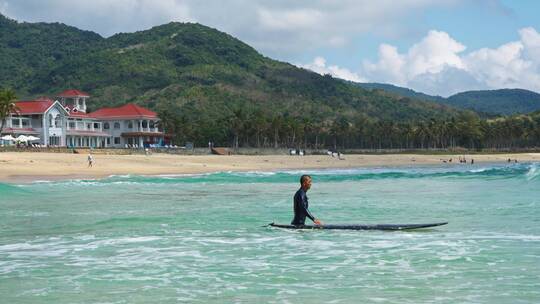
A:
{"type": "Polygon", "coordinates": [[[2,303],[539,303],[540,165],[0,184],[2,303]]]}

